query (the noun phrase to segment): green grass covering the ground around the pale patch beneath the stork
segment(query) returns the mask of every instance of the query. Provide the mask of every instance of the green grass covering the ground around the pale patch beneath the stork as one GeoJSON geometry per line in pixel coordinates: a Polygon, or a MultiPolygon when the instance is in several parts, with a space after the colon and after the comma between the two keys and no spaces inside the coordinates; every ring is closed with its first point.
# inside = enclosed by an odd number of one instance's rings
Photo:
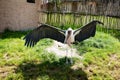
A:
{"type": "Polygon", "coordinates": [[[0,80],[118,80],[120,79],[120,41],[115,35],[97,31],[95,37],[73,45],[83,59],[72,65],[45,48],[50,39],[35,47],[24,46],[27,32],[0,34],[0,80]]]}

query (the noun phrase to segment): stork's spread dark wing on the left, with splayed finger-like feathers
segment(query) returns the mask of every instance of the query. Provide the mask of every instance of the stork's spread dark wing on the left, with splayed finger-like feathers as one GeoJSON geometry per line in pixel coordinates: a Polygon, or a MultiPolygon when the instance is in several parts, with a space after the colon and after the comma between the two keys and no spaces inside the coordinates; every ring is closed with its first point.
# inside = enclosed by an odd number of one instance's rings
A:
{"type": "Polygon", "coordinates": [[[41,24],[38,28],[34,29],[31,33],[27,34],[25,39],[26,46],[34,46],[40,39],[51,38],[64,43],[64,31],[47,24],[41,24]]]}

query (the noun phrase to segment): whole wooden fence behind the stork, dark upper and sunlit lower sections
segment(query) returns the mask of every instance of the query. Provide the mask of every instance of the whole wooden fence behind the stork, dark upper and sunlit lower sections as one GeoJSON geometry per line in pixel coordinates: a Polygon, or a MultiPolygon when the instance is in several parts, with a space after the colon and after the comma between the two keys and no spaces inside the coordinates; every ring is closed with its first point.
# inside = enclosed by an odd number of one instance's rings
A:
{"type": "MultiPolygon", "coordinates": [[[[62,6],[63,6],[63,3],[62,3],[62,6]]],[[[46,6],[44,7],[46,8],[46,6]]],[[[60,5],[59,5],[60,7],[59,9],[57,9],[58,8],[57,5],[54,7],[52,8],[54,8],[55,10],[54,9],[53,10],[41,9],[42,10],[40,11],[41,17],[39,21],[42,23],[48,23],[51,25],[70,26],[74,28],[75,26],[76,27],[83,26],[92,20],[99,20],[101,22],[104,22],[104,26],[103,26],[104,28],[120,30],[120,18],[119,18],[120,17],[120,5],[118,5],[118,3],[116,2],[115,3],[110,2],[107,4],[99,3],[99,6],[93,6],[89,8],[88,8],[88,4],[86,3],[86,6],[85,4],[84,6],[82,6],[82,8],[86,9],[86,12],[69,11],[70,9],[67,10],[67,8],[61,10],[60,5]],[[95,8],[96,10],[93,8],[95,8]],[[93,13],[93,11],[98,11],[98,12],[93,13]]]]}

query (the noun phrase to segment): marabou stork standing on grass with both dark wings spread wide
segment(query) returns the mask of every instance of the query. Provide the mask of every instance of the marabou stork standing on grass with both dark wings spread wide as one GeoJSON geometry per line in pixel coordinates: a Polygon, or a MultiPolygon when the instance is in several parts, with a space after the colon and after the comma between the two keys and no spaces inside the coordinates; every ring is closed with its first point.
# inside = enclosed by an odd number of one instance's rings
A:
{"type": "Polygon", "coordinates": [[[61,30],[48,24],[41,24],[38,28],[24,37],[25,45],[33,47],[39,40],[50,38],[70,46],[74,42],[81,42],[90,37],[94,37],[97,23],[103,25],[102,22],[94,20],[76,30],[72,30],[71,28],[61,30]]]}

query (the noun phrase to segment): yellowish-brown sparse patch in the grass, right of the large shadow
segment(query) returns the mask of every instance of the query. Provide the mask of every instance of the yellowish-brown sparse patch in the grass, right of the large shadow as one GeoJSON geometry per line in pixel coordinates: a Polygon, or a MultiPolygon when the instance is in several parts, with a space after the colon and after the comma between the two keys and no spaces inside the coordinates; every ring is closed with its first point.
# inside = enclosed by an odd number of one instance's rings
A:
{"type": "Polygon", "coordinates": [[[110,75],[114,80],[120,80],[120,58],[117,53],[110,54],[108,58],[109,60],[103,61],[103,65],[101,66],[91,64],[88,67],[85,67],[88,76],[102,73],[102,75],[110,75]]]}

